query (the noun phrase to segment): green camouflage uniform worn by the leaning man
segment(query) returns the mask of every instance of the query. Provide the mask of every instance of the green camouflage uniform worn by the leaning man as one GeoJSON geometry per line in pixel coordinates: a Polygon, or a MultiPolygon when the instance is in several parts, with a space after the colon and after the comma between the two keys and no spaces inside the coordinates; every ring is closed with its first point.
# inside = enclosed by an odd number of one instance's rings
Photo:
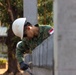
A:
{"type": "Polygon", "coordinates": [[[47,37],[50,36],[49,30],[51,29],[50,26],[39,26],[39,35],[38,37],[34,37],[30,40],[23,38],[22,42],[19,43],[19,45],[16,48],[16,56],[18,59],[18,62],[22,62],[23,54],[27,50],[33,50],[35,47],[37,47],[40,43],[42,43],[47,37]]]}

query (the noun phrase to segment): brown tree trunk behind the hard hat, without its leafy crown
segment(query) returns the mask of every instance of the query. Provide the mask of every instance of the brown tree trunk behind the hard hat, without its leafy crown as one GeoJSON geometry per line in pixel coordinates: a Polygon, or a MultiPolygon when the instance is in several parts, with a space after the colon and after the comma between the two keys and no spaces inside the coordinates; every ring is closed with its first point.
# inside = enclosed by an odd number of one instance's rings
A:
{"type": "Polygon", "coordinates": [[[3,75],[9,75],[9,73],[16,75],[16,73],[19,72],[19,66],[15,56],[15,47],[12,46],[12,37],[14,37],[14,34],[10,26],[10,29],[8,30],[8,37],[6,39],[6,44],[8,47],[8,70],[3,75]]]}

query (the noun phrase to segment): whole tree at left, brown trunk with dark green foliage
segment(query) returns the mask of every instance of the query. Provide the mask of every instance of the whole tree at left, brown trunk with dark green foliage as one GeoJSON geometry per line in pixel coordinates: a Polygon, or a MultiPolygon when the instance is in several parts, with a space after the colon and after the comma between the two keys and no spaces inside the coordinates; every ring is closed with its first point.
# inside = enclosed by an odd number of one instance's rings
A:
{"type": "Polygon", "coordinates": [[[19,72],[15,57],[15,45],[20,39],[15,37],[12,32],[12,22],[16,18],[23,16],[22,3],[22,0],[0,0],[0,20],[2,25],[9,28],[7,32],[8,37],[6,39],[6,44],[8,46],[8,70],[4,73],[4,75],[8,75],[11,72],[16,75],[16,73],[19,72]],[[16,39],[16,41],[14,41],[14,39],[16,39]]]}

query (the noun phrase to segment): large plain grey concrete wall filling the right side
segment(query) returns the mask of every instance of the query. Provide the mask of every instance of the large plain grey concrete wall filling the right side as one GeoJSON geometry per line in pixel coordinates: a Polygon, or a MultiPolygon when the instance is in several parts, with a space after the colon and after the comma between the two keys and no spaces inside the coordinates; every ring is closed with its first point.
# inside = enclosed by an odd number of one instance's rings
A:
{"type": "Polygon", "coordinates": [[[76,75],[76,0],[54,0],[55,75],[76,75]]]}

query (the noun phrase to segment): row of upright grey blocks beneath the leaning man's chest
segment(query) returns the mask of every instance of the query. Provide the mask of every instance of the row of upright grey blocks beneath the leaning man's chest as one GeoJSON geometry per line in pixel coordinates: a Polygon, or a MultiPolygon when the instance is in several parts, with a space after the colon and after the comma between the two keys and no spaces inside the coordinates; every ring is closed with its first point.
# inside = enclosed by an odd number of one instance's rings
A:
{"type": "Polygon", "coordinates": [[[48,37],[32,52],[32,62],[34,66],[51,68],[53,66],[53,35],[48,37]]]}

